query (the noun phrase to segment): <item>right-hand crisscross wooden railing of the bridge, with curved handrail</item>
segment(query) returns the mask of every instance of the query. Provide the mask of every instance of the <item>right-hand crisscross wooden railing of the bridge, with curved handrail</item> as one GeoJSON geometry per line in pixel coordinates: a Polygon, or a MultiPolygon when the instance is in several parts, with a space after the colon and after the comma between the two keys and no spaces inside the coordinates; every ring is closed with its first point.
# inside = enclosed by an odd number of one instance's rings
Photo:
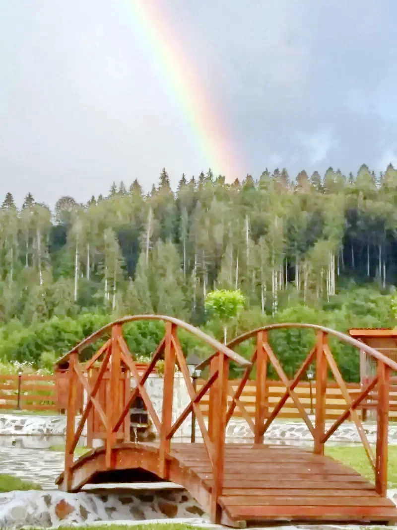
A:
{"type": "MultiPolygon", "coordinates": [[[[231,404],[227,411],[226,421],[228,422],[236,407],[239,407],[241,415],[246,418],[251,427],[255,443],[263,443],[264,434],[272,425],[272,422],[278,416],[286,401],[290,398],[295,404],[296,409],[303,421],[306,423],[314,440],[314,453],[323,454],[324,444],[329,440],[338,427],[347,419],[354,421],[369,463],[375,474],[376,491],[383,496],[386,495],[387,488],[387,435],[389,423],[389,392],[391,373],[397,371],[397,363],[381,354],[379,351],[365,345],[349,335],[338,331],[324,328],[323,326],[312,324],[272,324],[263,328],[252,330],[240,335],[228,343],[229,348],[235,348],[241,342],[255,338],[255,349],[251,357],[251,365],[247,366],[241,378],[236,392],[231,394],[231,404]],[[316,333],[314,346],[308,352],[302,365],[297,370],[292,379],[288,378],[284,369],[279,362],[276,354],[269,344],[269,333],[272,330],[303,328],[311,329],[316,333]],[[348,392],[346,383],[341,375],[335,357],[332,355],[328,338],[335,337],[338,340],[354,346],[358,350],[364,350],[377,363],[376,375],[367,382],[355,398],[352,398],[348,392]],[[280,381],[285,385],[285,393],[282,398],[275,404],[272,412],[269,412],[268,403],[268,367],[272,365],[280,381]],[[315,366],[315,423],[313,425],[308,413],[305,411],[299,395],[294,392],[297,384],[306,377],[308,368],[315,366]],[[252,367],[256,366],[256,396],[255,396],[255,421],[252,421],[240,396],[245,387],[252,367]],[[341,393],[346,401],[346,409],[340,414],[340,417],[333,425],[326,429],[326,390],[328,373],[331,373],[336,383],[340,387],[341,393]],[[377,387],[377,438],[376,452],[373,453],[371,445],[368,443],[365,430],[359,418],[357,408],[366,399],[368,394],[377,387]]],[[[211,362],[211,359],[204,361],[201,367],[211,362]]]]}

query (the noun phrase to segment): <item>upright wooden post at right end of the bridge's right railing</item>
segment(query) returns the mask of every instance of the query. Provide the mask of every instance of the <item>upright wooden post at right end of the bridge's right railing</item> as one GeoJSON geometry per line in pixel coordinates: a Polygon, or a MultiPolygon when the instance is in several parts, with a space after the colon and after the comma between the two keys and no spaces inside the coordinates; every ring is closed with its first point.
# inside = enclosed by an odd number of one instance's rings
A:
{"type": "Polygon", "coordinates": [[[390,368],[378,360],[378,405],[376,430],[376,492],[386,497],[387,490],[387,437],[389,430],[390,368]]]}

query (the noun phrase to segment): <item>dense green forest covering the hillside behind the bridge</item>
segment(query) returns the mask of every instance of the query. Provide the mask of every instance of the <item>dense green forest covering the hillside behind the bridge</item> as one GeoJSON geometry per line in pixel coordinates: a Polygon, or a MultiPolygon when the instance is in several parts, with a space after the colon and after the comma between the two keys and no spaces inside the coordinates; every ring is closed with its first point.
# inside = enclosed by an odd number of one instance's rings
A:
{"type": "MultiPolygon", "coordinates": [[[[18,209],[7,193],[0,209],[0,359],[61,354],[96,324],[134,313],[175,315],[222,339],[204,308],[216,288],[245,296],[229,338],[304,316],[343,331],[394,325],[391,164],[380,174],[366,165],[357,174],[330,167],[292,178],[286,169],[265,170],[233,183],[209,170],[182,175],[176,190],[163,169],[147,194],[135,179],[87,204],[61,197],[54,211],[35,199],[28,193],[18,209]],[[24,350],[22,335],[39,337],[51,325],[66,330],[63,338],[58,332],[52,344],[37,339],[24,350]]],[[[136,340],[149,354],[142,333],[136,340]]]]}

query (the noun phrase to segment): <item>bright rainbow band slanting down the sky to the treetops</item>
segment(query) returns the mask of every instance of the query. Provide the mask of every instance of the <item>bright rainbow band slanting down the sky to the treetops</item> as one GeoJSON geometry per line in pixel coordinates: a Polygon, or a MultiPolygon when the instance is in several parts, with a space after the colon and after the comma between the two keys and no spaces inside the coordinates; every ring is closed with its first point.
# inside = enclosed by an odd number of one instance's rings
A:
{"type": "Polygon", "coordinates": [[[223,174],[228,181],[243,178],[242,163],[227,127],[219,118],[209,94],[195,73],[193,60],[188,58],[175,38],[176,31],[167,26],[159,2],[127,0],[137,31],[158,61],[164,82],[192,130],[207,167],[214,175],[223,174]]]}

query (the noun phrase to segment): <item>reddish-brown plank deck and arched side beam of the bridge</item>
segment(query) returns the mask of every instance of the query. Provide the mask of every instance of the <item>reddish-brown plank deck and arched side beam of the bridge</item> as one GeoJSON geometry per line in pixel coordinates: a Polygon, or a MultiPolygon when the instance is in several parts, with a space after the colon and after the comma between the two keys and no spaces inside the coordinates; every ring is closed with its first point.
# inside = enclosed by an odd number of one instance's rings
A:
{"type": "MultiPolygon", "coordinates": [[[[204,445],[173,444],[164,479],[159,478],[159,456],[154,444],[119,444],[107,470],[104,448],[94,449],[74,463],[69,491],[96,483],[174,482],[210,513],[213,476],[204,445]]],[[[57,483],[65,489],[63,474],[57,483]]],[[[288,446],[227,444],[219,506],[221,522],[229,526],[397,520],[393,502],[362,475],[330,457],[288,446]]]]}

